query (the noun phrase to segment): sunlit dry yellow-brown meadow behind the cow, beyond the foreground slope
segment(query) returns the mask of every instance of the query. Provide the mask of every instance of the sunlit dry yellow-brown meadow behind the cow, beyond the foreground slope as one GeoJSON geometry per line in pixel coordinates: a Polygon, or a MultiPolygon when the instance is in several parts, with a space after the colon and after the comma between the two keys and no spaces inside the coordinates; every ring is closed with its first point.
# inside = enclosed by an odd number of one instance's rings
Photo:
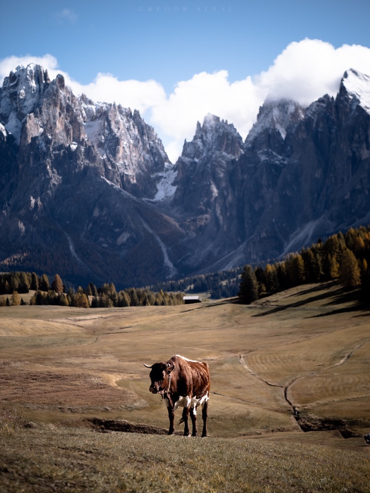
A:
{"type": "MultiPolygon", "coordinates": [[[[303,440],[295,410],[313,426],[341,420],[354,434],[370,426],[369,312],[335,286],[253,306],[0,310],[2,403],[33,422],[97,416],[167,428],[142,363],[183,354],[210,366],[213,436],[303,440]]],[[[364,449],[362,437],[350,440],[364,449]]]]}

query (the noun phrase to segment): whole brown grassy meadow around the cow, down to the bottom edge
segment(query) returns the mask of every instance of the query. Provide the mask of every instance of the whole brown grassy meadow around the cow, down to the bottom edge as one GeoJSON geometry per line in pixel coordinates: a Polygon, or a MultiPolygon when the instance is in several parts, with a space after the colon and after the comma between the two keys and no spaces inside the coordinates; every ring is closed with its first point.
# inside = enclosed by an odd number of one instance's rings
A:
{"type": "Polygon", "coordinates": [[[335,284],[0,315],[1,492],[370,492],[370,311],[335,284]],[[165,434],[173,354],[210,366],[209,438],[165,434]]]}

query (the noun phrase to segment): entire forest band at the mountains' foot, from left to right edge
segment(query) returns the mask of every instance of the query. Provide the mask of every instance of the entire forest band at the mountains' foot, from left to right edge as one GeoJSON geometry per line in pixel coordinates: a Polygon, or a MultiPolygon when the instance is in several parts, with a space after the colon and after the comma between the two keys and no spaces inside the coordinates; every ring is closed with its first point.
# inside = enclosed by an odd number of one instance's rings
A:
{"type": "Polygon", "coordinates": [[[205,293],[211,298],[239,296],[251,303],[264,296],[300,284],[336,281],[344,288],[360,288],[361,301],[370,301],[370,226],[350,228],[325,242],[291,253],[283,260],[265,265],[245,265],[229,271],[160,282],[147,287],[130,287],[117,292],[114,284],[97,288],[66,289],[58,274],[50,282],[46,274],[8,272],[0,274],[0,306],[25,304],[22,294],[35,291],[30,305],[61,305],[81,308],[167,306],[183,304],[184,292],[205,293]]]}

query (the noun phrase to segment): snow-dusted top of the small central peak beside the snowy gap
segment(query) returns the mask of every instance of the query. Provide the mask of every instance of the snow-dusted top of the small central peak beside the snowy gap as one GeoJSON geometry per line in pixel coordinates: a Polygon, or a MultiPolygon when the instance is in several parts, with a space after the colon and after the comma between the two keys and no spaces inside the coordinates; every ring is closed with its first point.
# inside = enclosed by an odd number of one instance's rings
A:
{"type": "Polygon", "coordinates": [[[208,113],[204,117],[203,125],[197,122],[193,140],[185,141],[181,158],[199,160],[209,152],[221,152],[238,158],[242,149],[243,140],[234,125],[208,113]]]}

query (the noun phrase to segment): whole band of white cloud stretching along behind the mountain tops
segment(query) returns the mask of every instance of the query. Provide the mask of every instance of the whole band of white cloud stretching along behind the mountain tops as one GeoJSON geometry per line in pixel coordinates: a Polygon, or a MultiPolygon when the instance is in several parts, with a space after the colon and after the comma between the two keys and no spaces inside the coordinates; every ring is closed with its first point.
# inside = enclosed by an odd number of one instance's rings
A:
{"type": "Polygon", "coordinates": [[[226,70],[201,72],[177,83],[168,97],[155,80],[118,80],[109,73],[98,73],[87,85],[76,82],[58,70],[52,55],[9,57],[0,60],[3,78],[17,65],[37,63],[47,68],[50,78],[62,73],[75,94],[85,93],[94,101],[119,103],[139,109],[157,131],[174,162],[181,154],[184,140],[191,140],[196,122],[207,113],[233,123],[243,139],[256,121],[259,106],[269,97],[290,98],[308,105],[324,94],[335,95],[345,70],[354,68],[370,74],[370,48],[332,44],[318,39],[290,43],[268,70],[255,77],[230,82],[226,70]]]}

